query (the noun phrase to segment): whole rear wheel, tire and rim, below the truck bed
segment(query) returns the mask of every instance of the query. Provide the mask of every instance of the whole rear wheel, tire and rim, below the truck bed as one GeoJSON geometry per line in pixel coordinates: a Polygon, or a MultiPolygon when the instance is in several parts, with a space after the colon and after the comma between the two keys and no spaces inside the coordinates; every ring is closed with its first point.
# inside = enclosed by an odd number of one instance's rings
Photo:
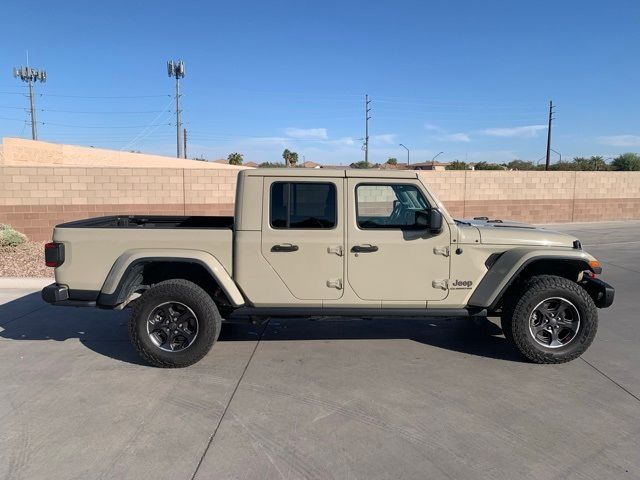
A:
{"type": "Polygon", "coordinates": [[[147,290],[129,320],[129,337],[156,367],[187,367],[204,357],[220,334],[216,304],[198,285],[167,280],[147,290]]]}

